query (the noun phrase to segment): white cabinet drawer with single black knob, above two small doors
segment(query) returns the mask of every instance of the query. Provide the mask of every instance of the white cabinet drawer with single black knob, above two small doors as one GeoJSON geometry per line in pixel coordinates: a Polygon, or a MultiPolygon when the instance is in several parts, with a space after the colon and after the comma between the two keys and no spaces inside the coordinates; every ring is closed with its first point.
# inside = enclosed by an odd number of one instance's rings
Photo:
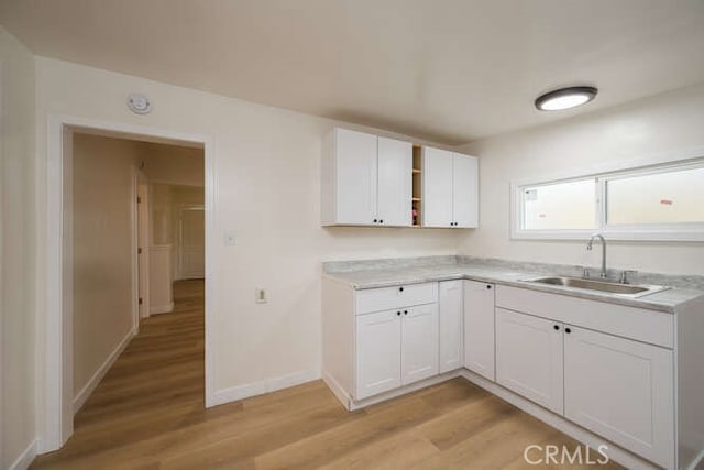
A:
{"type": "Polygon", "coordinates": [[[356,315],[438,302],[438,283],[370,288],[356,293],[356,315]]]}

